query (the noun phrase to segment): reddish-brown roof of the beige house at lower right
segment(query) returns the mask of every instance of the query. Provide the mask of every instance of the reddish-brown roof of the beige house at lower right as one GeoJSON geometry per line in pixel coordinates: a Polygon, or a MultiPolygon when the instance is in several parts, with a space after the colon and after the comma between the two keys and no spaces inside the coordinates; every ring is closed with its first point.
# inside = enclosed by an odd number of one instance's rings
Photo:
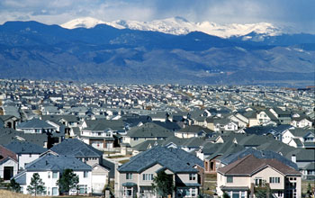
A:
{"type": "Polygon", "coordinates": [[[223,175],[255,175],[266,167],[272,167],[283,175],[301,175],[301,173],[290,166],[284,165],[277,159],[257,158],[254,155],[247,155],[237,161],[220,167],[218,172],[223,175]]]}

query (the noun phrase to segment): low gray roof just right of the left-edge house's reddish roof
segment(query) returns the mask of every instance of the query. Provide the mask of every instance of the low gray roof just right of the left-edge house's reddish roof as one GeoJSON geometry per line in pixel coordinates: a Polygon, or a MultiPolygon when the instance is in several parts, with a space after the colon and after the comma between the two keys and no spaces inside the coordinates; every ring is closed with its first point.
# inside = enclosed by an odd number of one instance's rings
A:
{"type": "Polygon", "coordinates": [[[47,151],[46,148],[42,148],[39,145],[20,140],[14,140],[4,147],[14,151],[16,154],[41,154],[47,151]]]}

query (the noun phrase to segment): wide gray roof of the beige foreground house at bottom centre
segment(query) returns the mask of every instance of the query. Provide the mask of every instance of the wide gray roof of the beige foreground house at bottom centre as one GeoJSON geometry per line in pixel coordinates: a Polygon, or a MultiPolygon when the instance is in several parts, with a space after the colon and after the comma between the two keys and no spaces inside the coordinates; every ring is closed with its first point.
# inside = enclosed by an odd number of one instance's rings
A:
{"type": "Polygon", "coordinates": [[[193,166],[203,167],[200,158],[187,153],[181,148],[153,147],[147,151],[141,152],[130,161],[118,168],[119,172],[137,172],[141,173],[150,166],[159,164],[171,170],[174,173],[198,172],[193,166]]]}

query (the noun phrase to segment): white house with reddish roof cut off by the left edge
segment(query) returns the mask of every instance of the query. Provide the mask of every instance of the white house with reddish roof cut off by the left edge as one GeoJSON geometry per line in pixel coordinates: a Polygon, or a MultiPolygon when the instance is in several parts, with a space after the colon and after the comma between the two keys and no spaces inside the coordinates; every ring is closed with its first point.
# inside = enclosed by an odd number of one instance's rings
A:
{"type": "Polygon", "coordinates": [[[0,178],[10,180],[17,174],[18,161],[16,154],[0,145],[0,178]]]}

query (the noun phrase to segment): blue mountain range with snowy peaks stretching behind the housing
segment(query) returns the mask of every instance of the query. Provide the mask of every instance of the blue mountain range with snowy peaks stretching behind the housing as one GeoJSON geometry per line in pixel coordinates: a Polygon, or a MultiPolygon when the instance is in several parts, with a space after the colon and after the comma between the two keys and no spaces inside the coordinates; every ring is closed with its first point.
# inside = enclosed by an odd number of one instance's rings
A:
{"type": "MultiPolygon", "coordinates": [[[[188,23],[178,17],[169,21],[188,23]]],[[[218,37],[176,27],[173,33],[143,26],[131,30],[130,23],[121,22],[4,23],[0,77],[238,85],[312,85],[315,80],[312,34],[275,28],[218,37]]]]}

